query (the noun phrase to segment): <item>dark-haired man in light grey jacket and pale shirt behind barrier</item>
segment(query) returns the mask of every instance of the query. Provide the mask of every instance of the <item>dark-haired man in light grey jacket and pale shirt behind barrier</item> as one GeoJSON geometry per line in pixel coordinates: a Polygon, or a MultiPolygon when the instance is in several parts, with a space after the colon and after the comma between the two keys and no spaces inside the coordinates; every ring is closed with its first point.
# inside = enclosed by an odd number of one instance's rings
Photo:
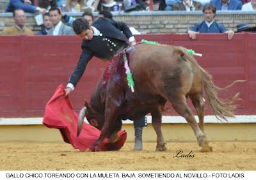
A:
{"type": "Polygon", "coordinates": [[[49,10],[50,20],[53,28],[49,31],[49,35],[74,35],[72,27],[69,27],[61,22],[61,11],[59,8],[51,8],[49,10]]]}

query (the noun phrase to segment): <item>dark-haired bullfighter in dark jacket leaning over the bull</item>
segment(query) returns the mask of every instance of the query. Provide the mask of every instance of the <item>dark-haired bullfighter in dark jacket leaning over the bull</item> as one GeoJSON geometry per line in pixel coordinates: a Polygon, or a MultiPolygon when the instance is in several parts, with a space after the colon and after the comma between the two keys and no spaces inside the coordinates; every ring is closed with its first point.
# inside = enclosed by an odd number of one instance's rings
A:
{"type": "MultiPolygon", "coordinates": [[[[74,90],[77,82],[81,79],[87,63],[93,56],[102,60],[110,60],[127,45],[136,45],[134,36],[124,22],[99,17],[92,26],[84,18],[76,19],[73,23],[74,31],[83,38],[82,53],[73,71],[67,88],[66,95],[74,90]]],[[[135,146],[134,149],[142,149],[142,129],[145,126],[145,118],[134,121],[135,146]]]]}

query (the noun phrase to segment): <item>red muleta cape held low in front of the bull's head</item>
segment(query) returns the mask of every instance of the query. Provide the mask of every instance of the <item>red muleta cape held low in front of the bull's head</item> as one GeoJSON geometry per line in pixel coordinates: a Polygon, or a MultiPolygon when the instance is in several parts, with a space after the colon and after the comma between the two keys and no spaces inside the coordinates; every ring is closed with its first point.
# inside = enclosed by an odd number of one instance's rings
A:
{"type": "MultiPolygon", "coordinates": [[[[63,140],[75,149],[95,151],[92,144],[99,138],[100,130],[90,124],[83,123],[83,129],[77,137],[77,119],[78,116],[68,96],[65,96],[64,87],[61,84],[45,107],[43,123],[49,128],[59,129],[63,140]]],[[[127,133],[124,130],[118,133],[120,137],[115,143],[110,143],[107,139],[104,140],[101,147],[102,151],[115,151],[124,146],[127,133]]]]}

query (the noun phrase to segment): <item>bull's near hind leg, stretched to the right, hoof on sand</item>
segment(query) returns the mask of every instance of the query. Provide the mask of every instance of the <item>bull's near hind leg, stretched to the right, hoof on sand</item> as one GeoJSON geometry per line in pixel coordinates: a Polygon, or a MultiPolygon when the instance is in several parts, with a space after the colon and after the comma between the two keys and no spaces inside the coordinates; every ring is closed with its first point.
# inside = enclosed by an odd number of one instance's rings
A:
{"type": "Polygon", "coordinates": [[[186,102],[186,97],[184,95],[175,96],[170,100],[172,103],[173,109],[182,117],[186,119],[191,128],[193,129],[196,139],[198,140],[198,144],[202,149],[201,152],[212,151],[211,147],[209,147],[209,140],[204,135],[204,133],[200,130],[198,124],[196,123],[196,119],[189,109],[188,104],[186,102]]]}

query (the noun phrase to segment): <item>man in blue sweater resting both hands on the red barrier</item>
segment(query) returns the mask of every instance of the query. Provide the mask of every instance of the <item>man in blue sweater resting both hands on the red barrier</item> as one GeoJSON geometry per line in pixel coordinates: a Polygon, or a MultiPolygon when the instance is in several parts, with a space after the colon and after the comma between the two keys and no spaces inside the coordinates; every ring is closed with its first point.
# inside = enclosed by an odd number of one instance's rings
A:
{"type": "Polygon", "coordinates": [[[204,6],[204,21],[196,23],[191,30],[188,31],[189,37],[195,40],[197,33],[227,33],[228,40],[231,40],[234,36],[234,31],[226,31],[222,24],[218,24],[214,21],[216,14],[216,7],[214,4],[207,4],[204,6]]]}

